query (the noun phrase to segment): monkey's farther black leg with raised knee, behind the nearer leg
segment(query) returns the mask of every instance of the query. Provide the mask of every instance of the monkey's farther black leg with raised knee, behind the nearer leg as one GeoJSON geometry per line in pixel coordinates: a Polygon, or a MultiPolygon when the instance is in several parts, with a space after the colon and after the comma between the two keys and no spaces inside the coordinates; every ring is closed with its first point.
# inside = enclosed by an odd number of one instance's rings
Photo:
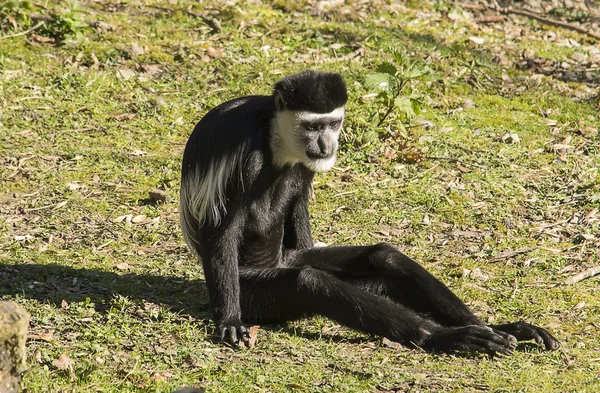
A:
{"type": "MultiPolygon", "coordinates": [[[[442,325],[483,325],[446,285],[389,244],[323,247],[288,253],[286,262],[292,266],[327,271],[344,281],[387,295],[442,325]]],[[[560,346],[546,330],[524,322],[492,328],[512,334],[518,340],[543,342],[546,349],[560,346]]]]}

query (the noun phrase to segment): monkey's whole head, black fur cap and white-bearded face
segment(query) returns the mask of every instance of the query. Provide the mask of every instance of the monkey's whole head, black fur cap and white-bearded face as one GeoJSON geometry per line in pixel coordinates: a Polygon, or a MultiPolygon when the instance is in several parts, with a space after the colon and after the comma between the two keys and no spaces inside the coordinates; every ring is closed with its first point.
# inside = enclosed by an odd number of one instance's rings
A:
{"type": "Polygon", "coordinates": [[[348,101],[342,76],[318,71],[291,75],[275,84],[273,99],[274,165],[300,162],[315,172],[331,169],[348,101]]]}

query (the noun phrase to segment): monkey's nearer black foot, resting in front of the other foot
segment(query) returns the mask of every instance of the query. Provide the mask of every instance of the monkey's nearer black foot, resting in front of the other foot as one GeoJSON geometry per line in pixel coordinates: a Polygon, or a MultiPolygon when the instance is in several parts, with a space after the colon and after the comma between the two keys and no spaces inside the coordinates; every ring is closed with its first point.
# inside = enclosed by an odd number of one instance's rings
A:
{"type": "Polygon", "coordinates": [[[440,327],[425,340],[421,347],[440,352],[485,352],[510,355],[517,346],[517,339],[501,330],[487,326],[470,325],[440,327]]]}

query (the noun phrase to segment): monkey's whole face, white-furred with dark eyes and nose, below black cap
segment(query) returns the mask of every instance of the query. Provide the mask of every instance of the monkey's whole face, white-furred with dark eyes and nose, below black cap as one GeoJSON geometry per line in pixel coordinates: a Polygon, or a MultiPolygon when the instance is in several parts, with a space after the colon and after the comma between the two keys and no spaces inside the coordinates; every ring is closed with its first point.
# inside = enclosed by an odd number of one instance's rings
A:
{"type": "Polygon", "coordinates": [[[275,164],[301,162],[315,172],[331,169],[343,121],[344,107],[329,113],[278,112],[273,123],[275,164]]]}

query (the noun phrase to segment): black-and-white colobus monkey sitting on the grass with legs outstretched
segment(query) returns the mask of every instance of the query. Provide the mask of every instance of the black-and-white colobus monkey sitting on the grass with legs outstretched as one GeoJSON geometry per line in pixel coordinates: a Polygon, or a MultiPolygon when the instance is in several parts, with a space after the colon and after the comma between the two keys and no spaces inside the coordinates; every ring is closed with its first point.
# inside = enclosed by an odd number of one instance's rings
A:
{"type": "Polygon", "coordinates": [[[314,248],[308,199],[331,169],[347,101],[341,75],[304,71],[270,96],[236,98],[196,125],[183,155],[181,227],[204,267],[221,339],[247,324],[315,314],[433,351],[546,349],[546,330],[486,326],[444,284],[389,244],[314,248]]]}

